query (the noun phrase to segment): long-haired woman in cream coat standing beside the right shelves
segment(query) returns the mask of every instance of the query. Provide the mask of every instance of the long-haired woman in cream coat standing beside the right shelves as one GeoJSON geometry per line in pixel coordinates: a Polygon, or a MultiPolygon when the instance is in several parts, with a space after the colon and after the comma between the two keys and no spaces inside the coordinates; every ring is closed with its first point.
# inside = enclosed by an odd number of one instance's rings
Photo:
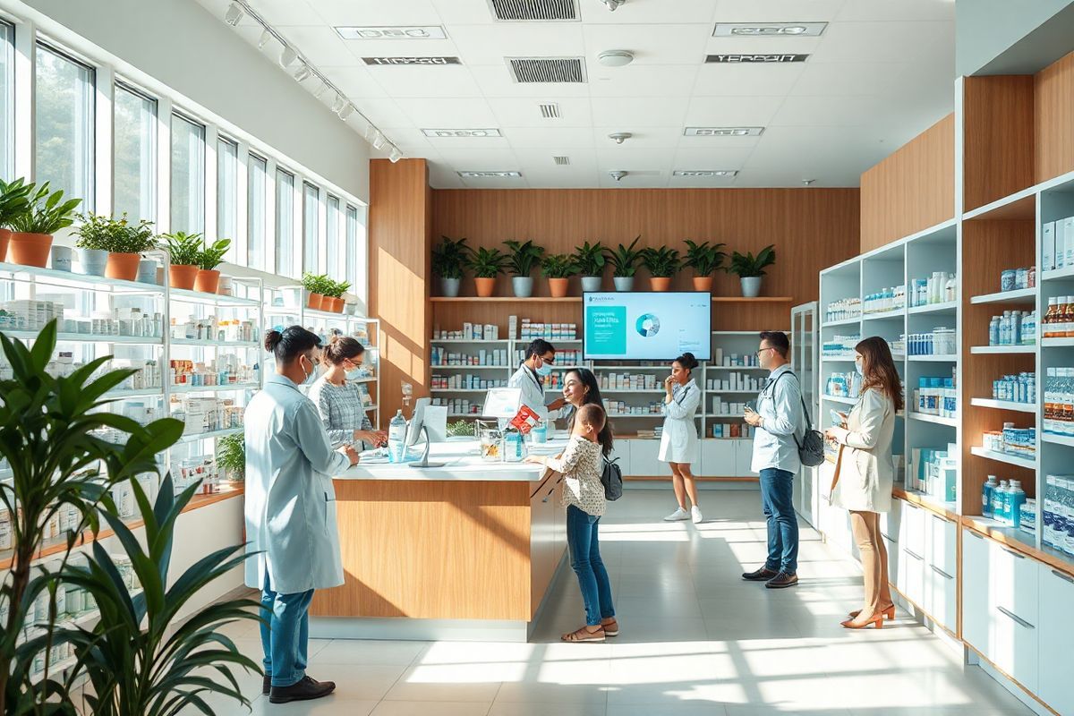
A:
{"type": "Polygon", "coordinates": [[[895,618],[895,603],[887,575],[887,550],[880,532],[880,513],[891,509],[891,438],[895,414],[902,409],[902,386],[887,341],[866,338],[854,348],[854,365],[862,377],[861,396],[846,419],[846,427],[830,427],[827,437],[842,445],[839,481],[832,505],[851,512],[851,527],[861,552],[865,602],[843,622],[847,629],[870,624],[877,629],[884,617],[895,618]]]}

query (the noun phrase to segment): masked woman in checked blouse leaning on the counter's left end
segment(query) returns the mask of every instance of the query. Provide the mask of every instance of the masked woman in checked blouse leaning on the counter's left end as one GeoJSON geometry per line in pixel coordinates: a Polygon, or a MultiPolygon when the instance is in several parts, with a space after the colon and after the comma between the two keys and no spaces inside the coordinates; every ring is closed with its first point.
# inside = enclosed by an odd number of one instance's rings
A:
{"type": "Polygon", "coordinates": [[[361,383],[348,378],[362,367],[364,354],[365,347],[350,336],[332,336],[321,352],[321,363],[328,369],[309,388],[309,399],[317,406],[333,447],[358,441],[373,448],[388,444],[388,434],[373,429],[362,403],[361,383]]]}

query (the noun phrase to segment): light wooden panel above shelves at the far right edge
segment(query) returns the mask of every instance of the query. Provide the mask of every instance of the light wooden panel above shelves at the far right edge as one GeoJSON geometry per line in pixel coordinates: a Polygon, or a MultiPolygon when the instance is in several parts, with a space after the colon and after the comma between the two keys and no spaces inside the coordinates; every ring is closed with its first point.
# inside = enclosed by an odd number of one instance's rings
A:
{"type": "Polygon", "coordinates": [[[1036,182],[1074,171],[1074,53],[1033,77],[1036,182]]]}

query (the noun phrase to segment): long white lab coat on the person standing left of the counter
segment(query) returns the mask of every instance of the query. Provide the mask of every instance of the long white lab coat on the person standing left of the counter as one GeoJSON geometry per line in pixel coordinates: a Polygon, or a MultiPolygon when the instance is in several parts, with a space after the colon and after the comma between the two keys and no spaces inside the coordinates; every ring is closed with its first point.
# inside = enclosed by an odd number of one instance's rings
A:
{"type": "Polygon", "coordinates": [[[265,573],[280,594],[343,584],[333,474],[350,467],[332,450],[317,408],[272,374],[246,407],[246,585],[265,573]]]}

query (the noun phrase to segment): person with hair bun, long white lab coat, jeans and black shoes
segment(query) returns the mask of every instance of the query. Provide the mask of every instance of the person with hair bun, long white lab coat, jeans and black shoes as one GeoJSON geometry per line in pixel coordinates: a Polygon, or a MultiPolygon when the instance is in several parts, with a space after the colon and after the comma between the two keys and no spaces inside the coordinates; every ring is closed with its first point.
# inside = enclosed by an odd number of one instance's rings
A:
{"type": "Polygon", "coordinates": [[[317,377],[317,334],[270,331],[276,372],[246,407],[246,584],[261,589],[263,692],[272,703],[328,696],[332,682],[306,675],[314,589],[343,584],[332,474],[358,464],[332,450],[317,408],[299,391],[317,377]]]}

